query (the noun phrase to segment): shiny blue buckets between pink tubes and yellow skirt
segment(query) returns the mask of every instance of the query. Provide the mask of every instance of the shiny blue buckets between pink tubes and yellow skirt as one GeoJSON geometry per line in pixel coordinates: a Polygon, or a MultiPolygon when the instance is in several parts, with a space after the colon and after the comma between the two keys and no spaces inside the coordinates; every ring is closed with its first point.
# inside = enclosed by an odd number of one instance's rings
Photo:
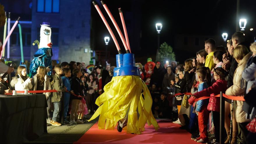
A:
{"type": "Polygon", "coordinates": [[[135,66],[134,54],[117,54],[113,77],[129,75],[141,76],[140,70],[135,66]]]}

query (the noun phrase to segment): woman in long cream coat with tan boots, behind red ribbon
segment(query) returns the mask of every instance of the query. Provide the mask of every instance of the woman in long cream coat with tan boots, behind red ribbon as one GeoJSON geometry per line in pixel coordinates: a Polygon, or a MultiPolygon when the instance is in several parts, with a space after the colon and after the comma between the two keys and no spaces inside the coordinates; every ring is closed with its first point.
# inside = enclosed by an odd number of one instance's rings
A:
{"type": "MultiPolygon", "coordinates": [[[[226,95],[231,96],[243,96],[245,91],[245,80],[242,78],[243,70],[245,69],[246,63],[248,59],[252,56],[252,54],[248,54],[248,49],[243,45],[238,45],[234,49],[233,58],[236,59],[238,63],[238,67],[235,70],[234,78],[233,78],[233,86],[226,90],[226,95]]],[[[250,119],[246,118],[246,113],[243,111],[243,101],[235,101],[237,105],[236,109],[236,121],[238,124],[238,128],[240,127],[242,130],[241,143],[246,143],[246,135],[248,134],[248,130],[246,129],[246,125],[250,122],[250,119]]],[[[236,134],[236,132],[234,133],[236,134]]],[[[239,135],[240,136],[240,135],[239,135]]],[[[232,136],[233,139],[236,138],[236,135],[232,136]]]]}

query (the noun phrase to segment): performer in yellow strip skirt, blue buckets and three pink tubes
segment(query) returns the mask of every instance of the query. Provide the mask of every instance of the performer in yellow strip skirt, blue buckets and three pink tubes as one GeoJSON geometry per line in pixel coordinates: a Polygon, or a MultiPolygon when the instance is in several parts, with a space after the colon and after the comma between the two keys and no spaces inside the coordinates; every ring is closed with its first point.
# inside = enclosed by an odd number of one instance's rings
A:
{"type": "MultiPolygon", "coordinates": [[[[123,41],[124,37],[109,9],[103,1],[101,1],[101,3],[109,14],[118,33],[120,32],[119,35],[123,41]]],[[[94,1],[93,4],[109,30],[109,25],[99,7],[94,1]]],[[[122,13],[120,9],[119,12],[122,13]]],[[[120,16],[123,23],[123,17],[121,14],[120,16]]],[[[123,26],[125,25],[123,24],[123,26]]],[[[124,28],[124,31],[125,30],[124,28]]],[[[112,33],[111,29],[109,32],[112,33]]],[[[116,39],[114,35],[112,38],[115,42],[116,39]]],[[[128,39],[128,36],[126,36],[126,38],[128,39]]],[[[114,69],[114,76],[111,82],[105,85],[105,92],[96,99],[95,104],[97,104],[99,108],[90,120],[100,115],[98,122],[99,129],[113,130],[118,123],[119,132],[127,126],[128,134],[141,134],[142,131],[144,131],[146,122],[148,125],[153,125],[156,130],[159,128],[159,125],[152,115],[152,98],[150,91],[140,78],[140,71],[138,67],[135,67],[134,54],[130,53],[127,42],[128,40],[123,42],[127,54],[120,54],[120,48],[118,49],[117,47],[119,54],[116,55],[117,67],[114,69]]]]}

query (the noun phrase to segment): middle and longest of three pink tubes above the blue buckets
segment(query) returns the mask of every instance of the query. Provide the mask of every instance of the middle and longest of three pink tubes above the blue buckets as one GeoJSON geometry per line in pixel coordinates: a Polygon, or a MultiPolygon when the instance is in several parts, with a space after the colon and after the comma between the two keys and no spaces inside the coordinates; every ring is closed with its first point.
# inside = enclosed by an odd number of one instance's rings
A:
{"type": "Polygon", "coordinates": [[[115,29],[117,30],[117,32],[118,32],[118,34],[119,34],[119,36],[120,36],[120,38],[121,38],[121,40],[122,40],[122,42],[123,42],[123,45],[125,46],[126,52],[130,52],[130,53],[131,53],[131,51],[129,51],[129,49],[128,49],[127,45],[126,45],[125,38],[124,38],[122,32],[120,31],[120,29],[119,29],[117,23],[115,22],[115,19],[114,19],[113,15],[112,15],[111,12],[109,11],[109,8],[108,8],[107,5],[104,3],[104,1],[100,1],[100,2],[102,3],[102,5],[103,5],[103,7],[105,8],[106,12],[108,13],[108,15],[109,15],[111,21],[113,22],[113,24],[114,24],[114,26],[115,26],[115,29]]]}

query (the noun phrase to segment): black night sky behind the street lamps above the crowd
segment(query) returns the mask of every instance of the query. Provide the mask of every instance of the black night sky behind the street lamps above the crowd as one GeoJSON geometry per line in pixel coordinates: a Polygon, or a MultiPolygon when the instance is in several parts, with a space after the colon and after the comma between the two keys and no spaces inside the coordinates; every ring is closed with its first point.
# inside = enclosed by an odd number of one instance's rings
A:
{"type": "MultiPolygon", "coordinates": [[[[98,1],[99,2],[99,1],[98,1]]],[[[154,55],[157,47],[157,32],[155,23],[161,22],[163,29],[160,36],[160,44],[167,42],[174,48],[174,37],[177,34],[189,34],[189,35],[219,35],[223,32],[229,34],[228,38],[236,30],[236,7],[237,2],[235,0],[204,0],[204,1],[180,1],[180,0],[158,0],[158,1],[118,1],[118,0],[104,0],[115,17],[120,29],[122,25],[117,9],[121,7],[123,12],[131,11],[131,5],[139,3],[141,11],[132,11],[132,13],[141,13],[141,50],[134,51],[135,54],[140,55],[154,55]]],[[[255,6],[256,1],[253,0],[241,0],[240,1],[240,18],[246,18],[247,31],[250,28],[255,27],[255,6]]],[[[100,8],[108,20],[112,31],[116,34],[119,45],[122,42],[116,33],[116,30],[104,11],[103,7],[100,8]]],[[[100,27],[97,38],[102,39],[102,42],[96,43],[96,47],[103,47],[104,49],[104,35],[109,35],[106,27],[101,21],[95,8],[92,7],[93,20],[97,21],[97,25],[100,27]]],[[[238,22],[237,22],[238,23],[238,22]]],[[[253,32],[255,33],[255,32],[253,32]]],[[[129,35],[129,33],[128,33],[129,35]]],[[[129,35],[131,37],[132,35],[129,35]]],[[[217,42],[218,43],[218,42],[217,42]]],[[[109,47],[115,53],[114,42],[111,40],[109,47]]],[[[122,46],[123,48],[123,46],[122,46]]],[[[121,49],[122,49],[121,48],[121,49]]],[[[204,47],[202,47],[204,49],[204,47]]],[[[186,58],[185,58],[186,59],[186,58]]],[[[184,59],[184,60],[185,60],[184,59]]]]}

